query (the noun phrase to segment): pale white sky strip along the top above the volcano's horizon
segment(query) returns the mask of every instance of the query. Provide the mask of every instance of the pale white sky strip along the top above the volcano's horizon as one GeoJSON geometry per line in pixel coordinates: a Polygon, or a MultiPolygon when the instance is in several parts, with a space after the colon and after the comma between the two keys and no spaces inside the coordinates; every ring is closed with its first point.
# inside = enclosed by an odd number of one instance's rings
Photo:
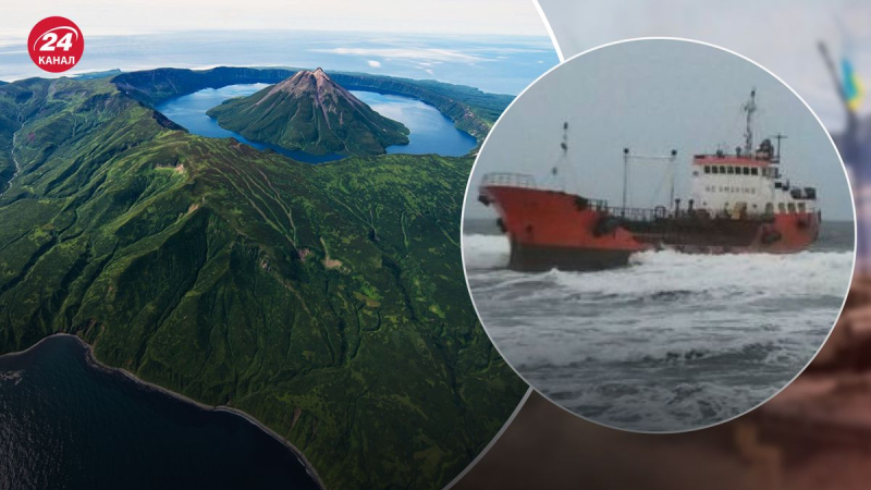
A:
{"type": "Polygon", "coordinates": [[[0,35],[62,15],[90,35],[187,29],[318,29],[544,35],[531,0],[40,0],[0,3],[0,35]]]}

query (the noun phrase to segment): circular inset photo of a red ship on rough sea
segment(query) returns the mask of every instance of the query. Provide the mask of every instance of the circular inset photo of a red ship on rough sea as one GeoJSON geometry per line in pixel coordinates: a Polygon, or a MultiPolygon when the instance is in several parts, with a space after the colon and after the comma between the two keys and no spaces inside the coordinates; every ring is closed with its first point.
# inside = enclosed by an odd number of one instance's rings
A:
{"type": "Polygon", "coordinates": [[[462,248],[505,359],[614,428],[708,427],[810,363],[849,287],[855,218],[831,137],[758,64],[679,39],[573,58],[475,163],[462,248]]]}

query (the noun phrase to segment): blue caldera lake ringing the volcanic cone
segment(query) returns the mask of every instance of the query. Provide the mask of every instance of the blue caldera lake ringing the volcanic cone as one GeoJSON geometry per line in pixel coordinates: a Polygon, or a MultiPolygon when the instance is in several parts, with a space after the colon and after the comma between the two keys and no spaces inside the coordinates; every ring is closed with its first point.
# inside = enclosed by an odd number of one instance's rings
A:
{"type": "MultiPolygon", "coordinates": [[[[206,112],[234,97],[246,97],[268,87],[268,84],[238,84],[221,88],[204,88],[193,94],[174,97],[157,105],[156,109],[172,122],[184,126],[193,134],[210,138],[236,138],[257,149],[271,149],[281,155],[307,163],[323,163],[346,158],[346,155],[311,155],[294,151],[262,142],[253,142],[238,133],[224,130],[206,112]]],[[[462,157],[467,155],[478,142],[463,131],[434,107],[420,100],[396,95],[373,91],[351,90],[355,97],[366,102],[376,112],[405,124],[410,134],[407,145],[387,148],[388,154],[427,155],[462,157]]]]}

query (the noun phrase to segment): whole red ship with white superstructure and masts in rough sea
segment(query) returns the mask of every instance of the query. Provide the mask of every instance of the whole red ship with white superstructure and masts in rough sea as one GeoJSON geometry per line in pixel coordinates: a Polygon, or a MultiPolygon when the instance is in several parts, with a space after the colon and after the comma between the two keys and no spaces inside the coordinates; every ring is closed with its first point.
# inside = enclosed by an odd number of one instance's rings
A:
{"type": "MultiPolygon", "coordinates": [[[[686,206],[626,207],[627,167],[636,157],[624,149],[624,203],[540,188],[530,175],[494,173],[483,177],[478,199],[492,205],[511,242],[508,267],[522,271],[601,270],[625,266],[633,253],[673,249],[692,254],[790,254],[812,244],[822,216],[813,187],[797,187],[781,174],[781,139],[753,149],[756,93],[744,106],[744,148],[726,155],[697,155],[686,206]]],[[[563,142],[563,150],[567,145],[563,142]]],[[[676,159],[676,151],[667,157],[676,159]]],[[[674,186],[672,186],[672,189],[674,186]]]]}

